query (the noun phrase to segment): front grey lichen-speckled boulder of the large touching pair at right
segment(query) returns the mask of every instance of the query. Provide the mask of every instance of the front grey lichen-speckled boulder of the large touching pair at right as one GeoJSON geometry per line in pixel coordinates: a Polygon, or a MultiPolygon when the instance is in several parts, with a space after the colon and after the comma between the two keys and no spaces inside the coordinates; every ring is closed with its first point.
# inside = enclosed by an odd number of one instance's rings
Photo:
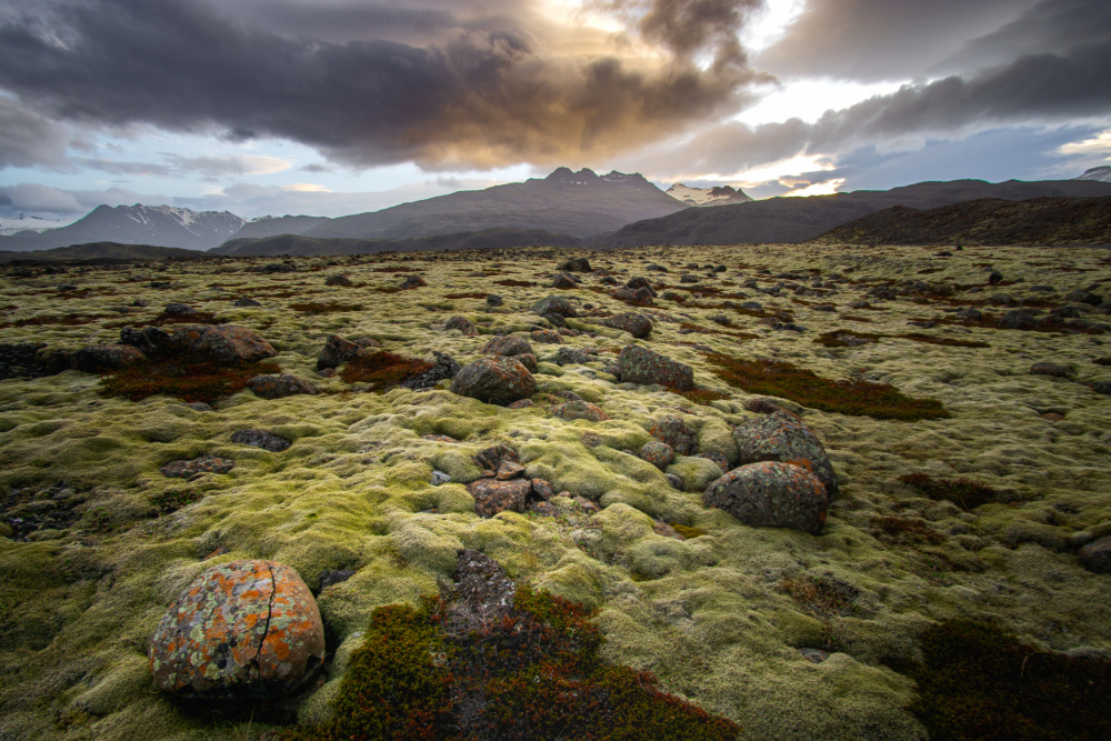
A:
{"type": "Polygon", "coordinates": [[[825,523],[825,487],[791,463],[764,461],[735,468],[702,493],[702,503],[753,528],[791,528],[811,534],[825,523]]]}

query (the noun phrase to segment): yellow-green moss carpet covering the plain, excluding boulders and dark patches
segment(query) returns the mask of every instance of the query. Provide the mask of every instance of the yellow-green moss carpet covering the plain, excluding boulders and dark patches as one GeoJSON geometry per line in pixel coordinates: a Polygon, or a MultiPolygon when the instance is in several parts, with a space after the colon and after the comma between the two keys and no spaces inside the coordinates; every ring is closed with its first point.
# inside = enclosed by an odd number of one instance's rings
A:
{"type": "Polygon", "coordinates": [[[147,642],[178,592],[213,562],[240,558],[287,563],[313,590],[323,571],[357,571],[319,593],[336,660],[298,710],[306,723],[327,722],[374,609],[418,607],[437,594],[464,547],[519,583],[595,610],[604,659],[652,672],[662,691],[735,722],[741,739],[925,739],[920,717],[932,700],[917,682],[927,681],[921,667],[939,624],[990,623],[1047,655],[1111,650],[1111,577],[1079,565],[1081,540],[1073,538],[1111,534],[1111,398],[1089,385],[1111,380],[1111,368],[1094,362],[1109,356],[1111,336],[922,327],[961,306],[998,317],[1002,310],[982,306],[998,291],[1043,309],[1092,284],[1107,296],[1108,251],[937,252],[759,246],[587,254],[621,282],[645,276],[667,286],[641,310],[655,322],[642,340],[593,323],[630,310],[608,289],[591,290],[604,288],[598,277],[558,291],[579,308],[567,323],[583,332],[564,342],[601,360],[560,367],[550,362],[559,346],[534,343],[539,391],[573,391],[612,418],[602,422],[562,421],[543,407],[492,407],[447,384],[381,392],[316,374],[331,333],[371,337],[414,360],[431,361],[439,350],[462,363],[490,336],[527,338],[539,322],[529,307],[557,292],[544,287],[575,254],[569,251],[307,258],[287,273],[249,270],[279,260],[219,260],[0,278],[0,342],[63,350],[110,343],[121,327],[151,323],[167,303],[183,302],[259,331],[278,350],[282,372],[322,392],[267,401],[241,390],[197,411],[163,393],[107,397],[99,377],[77,371],[0,381],[0,738],[243,739],[276,730],[264,709],[240,717],[182,705],[156,691],[147,671],[147,642]],[[647,271],[652,263],[668,272],[647,271]],[[727,270],[710,278],[708,267],[719,264],[727,270]],[[987,286],[989,267],[1004,286],[987,286]],[[327,287],[338,272],[354,284],[327,287]],[[683,272],[702,276],[704,286],[680,287],[683,272]],[[380,290],[409,274],[428,286],[380,290]],[[809,287],[811,277],[822,286],[795,293],[792,284],[809,287]],[[750,279],[757,289],[784,288],[769,296],[742,286],[750,279]],[[871,310],[849,307],[873,288],[898,291],[912,280],[955,288],[869,297],[871,310]],[[78,286],[79,296],[60,299],[60,282],[78,286]],[[682,302],[662,298],[679,288],[682,302]],[[491,293],[503,306],[480,298],[491,293]],[[239,298],[262,306],[234,307],[239,298]],[[133,307],[137,299],[149,306],[133,307]],[[745,301],[762,310],[733,308],[745,301]],[[823,303],[835,311],[814,308],[823,303]],[[480,336],[444,331],[456,314],[480,336]],[[814,342],[854,329],[882,341],[814,342]],[[692,400],[618,382],[607,368],[631,343],[690,364],[707,393],[692,400]],[[672,464],[688,482],[679,491],[625,452],[649,440],[655,419],[678,414],[698,430],[700,451],[735,461],[730,427],[755,418],[748,402],[770,394],[728,382],[712,362],[722,357],[737,361],[734,369],[790,363],[847,389],[888,384],[932,400],[948,417],[844,414],[783,388],[788,395],[774,400],[825,442],[842,494],[817,537],[747,528],[702,505],[704,459],[672,464]],[[1069,366],[1073,375],[1031,375],[1041,361],[1069,366]],[[271,453],[232,443],[243,429],[293,444],[271,453]],[[497,443],[518,451],[528,475],[604,509],[480,519],[466,483],[480,475],[472,457],[497,443]],[[199,455],[236,467],[189,481],[159,472],[199,455]],[[451,482],[433,487],[433,470],[451,482]],[[914,485],[927,479],[902,479],[913,474],[993,493],[962,507],[914,485]],[[651,518],[691,537],[657,534],[651,518]],[[813,663],[799,649],[830,655],[813,663]]]}

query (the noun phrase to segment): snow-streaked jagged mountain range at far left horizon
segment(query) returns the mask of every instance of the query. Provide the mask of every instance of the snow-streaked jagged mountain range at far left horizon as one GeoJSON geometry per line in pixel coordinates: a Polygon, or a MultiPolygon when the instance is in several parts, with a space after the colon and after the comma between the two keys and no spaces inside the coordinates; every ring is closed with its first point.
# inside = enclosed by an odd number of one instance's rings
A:
{"type": "Polygon", "coordinates": [[[190,211],[172,206],[99,206],[68,227],[39,234],[0,237],[0,251],[49,250],[71,244],[116,242],[207,250],[247,223],[228,211],[190,211]]]}

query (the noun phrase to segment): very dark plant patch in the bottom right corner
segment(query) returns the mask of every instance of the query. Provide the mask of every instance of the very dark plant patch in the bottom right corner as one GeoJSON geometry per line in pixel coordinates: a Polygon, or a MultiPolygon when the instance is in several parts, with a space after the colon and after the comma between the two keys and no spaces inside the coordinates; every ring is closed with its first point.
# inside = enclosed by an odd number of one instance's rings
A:
{"type": "Polygon", "coordinates": [[[1040,651],[984,623],[922,637],[910,710],[935,741],[1111,738],[1111,661],[1040,651]]]}

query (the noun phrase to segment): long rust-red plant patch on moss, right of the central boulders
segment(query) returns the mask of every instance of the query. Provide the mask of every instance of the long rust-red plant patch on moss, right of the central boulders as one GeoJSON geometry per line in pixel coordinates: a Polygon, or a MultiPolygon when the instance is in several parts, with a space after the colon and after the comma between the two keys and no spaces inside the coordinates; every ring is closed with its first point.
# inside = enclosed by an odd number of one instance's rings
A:
{"type": "Polygon", "coordinates": [[[707,353],[707,362],[718,378],[749,393],[790,399],[812,409],[908,422],[950,417],[940,401],[912,399],[887,383],[831,381],[779,360],[739,360],[707,353]]]}

